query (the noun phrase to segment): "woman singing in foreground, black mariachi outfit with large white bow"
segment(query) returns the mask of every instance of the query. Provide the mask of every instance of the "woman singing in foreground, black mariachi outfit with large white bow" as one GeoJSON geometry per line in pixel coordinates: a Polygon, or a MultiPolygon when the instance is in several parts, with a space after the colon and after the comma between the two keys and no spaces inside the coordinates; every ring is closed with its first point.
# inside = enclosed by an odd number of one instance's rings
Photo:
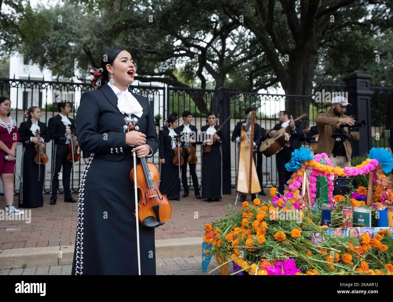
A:
{"type": "MultiPolygon", "coordinates": [[[[131,54],[109,49],[100,66],[90,70],[99,87],[82,94],[76,116],[78,142],[91,153],[79,185],[72,274],[138,275],[133,152],[145,161],[159,141],[147,98],[128,88],[136,73],[131,54]]],[[[141,274],[155,275],[154,227],[140,225],[139,238],[141,274]]]]}

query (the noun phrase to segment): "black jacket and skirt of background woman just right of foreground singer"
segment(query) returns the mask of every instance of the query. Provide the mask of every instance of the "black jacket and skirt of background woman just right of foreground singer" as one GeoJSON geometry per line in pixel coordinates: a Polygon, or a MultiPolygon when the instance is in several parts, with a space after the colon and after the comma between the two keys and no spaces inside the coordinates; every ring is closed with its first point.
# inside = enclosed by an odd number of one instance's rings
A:
{"type": "Polygon", "coordinates": [[[173,164],[174,150],[168,128],[160,130],[158,139],[160,140],[160,159],[165,159],[165,164],[160,161],[160,192],[165,194],[168,200],[177,200],[180,198],[179,167],[173,164]]]}

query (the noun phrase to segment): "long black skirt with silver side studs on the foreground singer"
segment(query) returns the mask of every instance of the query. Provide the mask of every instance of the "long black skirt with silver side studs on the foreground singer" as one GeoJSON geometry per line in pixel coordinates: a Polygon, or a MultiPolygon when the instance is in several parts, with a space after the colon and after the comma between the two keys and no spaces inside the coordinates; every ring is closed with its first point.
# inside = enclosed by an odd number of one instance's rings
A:
{"type": "MultiPolygon", "coordinates": [[[[130,151],[121,161],[89,157],[81,179],[72,275],[138,275],[130,151]]],[[[155,275],[154,228],[139,225],[139,239],[141,275],[155,275]]]]}

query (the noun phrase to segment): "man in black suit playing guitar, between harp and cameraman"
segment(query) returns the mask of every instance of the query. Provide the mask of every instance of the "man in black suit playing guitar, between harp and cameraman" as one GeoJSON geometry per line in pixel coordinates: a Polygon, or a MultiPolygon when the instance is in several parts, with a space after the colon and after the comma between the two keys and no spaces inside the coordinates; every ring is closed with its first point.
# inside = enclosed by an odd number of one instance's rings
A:
{"type": "Polygon", "coordinates": [[[280,128],[290,126],[290,138],[288,143],[275,155],[275,163],[278,172],[278,191],[284,194],[284,185],[290,179],[292,172],[287,171],[285,164],[291,159],[292,152],[301,147],[301,138],[303,136],[303,127],[299,121],[294,122],[293,117],[287,110],[280,111],[278,115],[279,123],[268,133],[267,137],[272,137],[280,128]]]}

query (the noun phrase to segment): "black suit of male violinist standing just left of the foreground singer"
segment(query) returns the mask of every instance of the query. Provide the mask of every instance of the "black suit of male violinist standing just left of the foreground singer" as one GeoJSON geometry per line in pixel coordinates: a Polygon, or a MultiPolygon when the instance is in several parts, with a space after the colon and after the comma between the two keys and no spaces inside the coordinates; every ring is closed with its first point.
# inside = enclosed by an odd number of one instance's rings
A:
{"type": "MultiPolygon", "coordinates": [[[[67,116],[68,117],[68,116],[67,116]]],[[[70,130],[75,129],[74,120],[68,117],[71,124],[68,125],[70,130]]],[[[69,144],[66,144],[66,125],[61,121],[61,116],[59,114],[51,117],[48,121],[48,128],[50,132],[50,138],[53,139],[52,146],[52,173],[51,173],[51,181],[50,181],[50,193],[51,198],[53,200],[57,200],[57,189],[59,187],[59,172],[61,170],[61,166],[63,166],[63,187],[64,187],[64,200],[70,200],[71,189],[70,189],[70,181],[71,181],[71,170],[72,170],[72,161],[67,160],[67,155],[70,153],[69,144]]],[[[75,132],[75,136],[76,132],[75,132]]]]}

